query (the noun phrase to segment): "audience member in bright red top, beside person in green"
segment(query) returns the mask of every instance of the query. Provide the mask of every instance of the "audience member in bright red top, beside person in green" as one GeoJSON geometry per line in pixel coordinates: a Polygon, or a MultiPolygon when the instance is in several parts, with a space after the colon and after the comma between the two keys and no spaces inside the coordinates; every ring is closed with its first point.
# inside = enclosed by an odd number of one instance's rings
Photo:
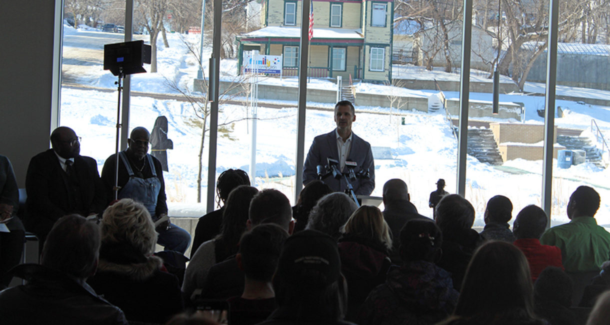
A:
{"type": "Polygon", "coordinates": [[[514,245],[528,259],[533,282],[547,266],[557,266],[561,270],[564,268],[561,263],[561,250],[555,246],[540,244],[539,238],[547,229],[547,223],[547,213],[544,210],[536,205],[528,205],[517,214],[512,225],[512,232],[517,237],[514,245]]]}

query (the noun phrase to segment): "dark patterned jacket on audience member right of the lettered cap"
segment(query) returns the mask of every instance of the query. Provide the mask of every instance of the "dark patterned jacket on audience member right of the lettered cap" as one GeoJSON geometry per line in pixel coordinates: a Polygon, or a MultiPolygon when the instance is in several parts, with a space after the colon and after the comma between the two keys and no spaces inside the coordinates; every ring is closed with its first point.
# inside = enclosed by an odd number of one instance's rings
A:
{"type": "Polygon", "coordinates": [[[436,324],[447,318],[458,303],[451,274],[425,261],[393,268],[362,304],[360,325],[436,324]]]}

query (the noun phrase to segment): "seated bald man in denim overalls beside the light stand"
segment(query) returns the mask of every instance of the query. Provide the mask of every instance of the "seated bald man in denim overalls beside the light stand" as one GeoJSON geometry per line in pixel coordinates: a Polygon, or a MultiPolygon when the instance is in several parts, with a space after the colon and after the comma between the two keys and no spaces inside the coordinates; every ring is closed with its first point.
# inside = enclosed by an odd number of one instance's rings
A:
{"type": "MultiPolygon", "coordinates": [[[[127,139],[128,148],[119,152],[118,164],[118,199],[131,198],[148,209],[152,220],[167,216],[165,182],[161,163],[148,154],[150,134],[144,127],[136,127],[127,139]]],[[[111,155],[104,163],[102,180],[107,189],[108,198],[114,198],[115,163],[117,155],[111,155]]],[[[159,238],[157,243],[166,251],[177,251],[184,254],[190,244],[190,235],[181,227],[170,221],[157,226],[159,238]]]]}

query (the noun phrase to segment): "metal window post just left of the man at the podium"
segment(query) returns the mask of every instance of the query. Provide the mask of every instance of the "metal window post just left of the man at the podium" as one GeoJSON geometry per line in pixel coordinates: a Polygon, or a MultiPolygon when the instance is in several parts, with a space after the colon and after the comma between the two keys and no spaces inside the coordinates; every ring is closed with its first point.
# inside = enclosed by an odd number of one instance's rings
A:
{"type": "Polygon", "coordinates": [[[299,103],[296,130],[295,202],[303,187],[303,163],[305,161],[305,110],[307,107],[307,60],[309,60],[309,6],[307,0],[301,1],[301,55],[299,55],[299,103]]]}

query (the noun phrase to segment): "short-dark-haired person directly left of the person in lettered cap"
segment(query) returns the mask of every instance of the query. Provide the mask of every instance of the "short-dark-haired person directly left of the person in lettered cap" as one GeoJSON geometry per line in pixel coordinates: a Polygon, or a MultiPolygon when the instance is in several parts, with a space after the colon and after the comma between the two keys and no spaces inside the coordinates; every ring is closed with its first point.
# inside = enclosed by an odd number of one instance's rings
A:
{"type": "Polygon", "coordinates": [[[227,301],[228,320],[232,325],[260,323],[276,308],[271,279],[288,236],[286,230],[276,224],[260,224],[243,234],[235,259],[245,274],[245,287],[241,296],[227,301]]]}

